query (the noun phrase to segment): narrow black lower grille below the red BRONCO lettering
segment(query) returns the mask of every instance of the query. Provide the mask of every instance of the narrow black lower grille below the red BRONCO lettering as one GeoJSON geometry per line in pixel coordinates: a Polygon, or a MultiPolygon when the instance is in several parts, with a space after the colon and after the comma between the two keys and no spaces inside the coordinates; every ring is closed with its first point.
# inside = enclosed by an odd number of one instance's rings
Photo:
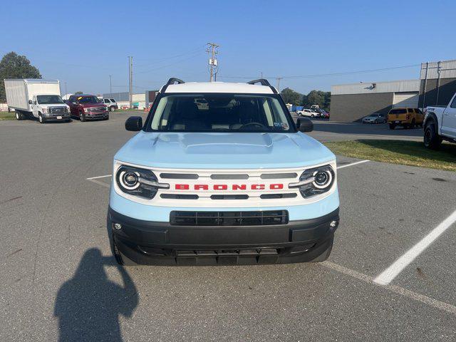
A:
{"type": "Polygon", "coordinates": [[[179,226],[263,226],[288,224],[286,210],[264,212],[182,212],[170,213],[170,224],[179,226]]]}

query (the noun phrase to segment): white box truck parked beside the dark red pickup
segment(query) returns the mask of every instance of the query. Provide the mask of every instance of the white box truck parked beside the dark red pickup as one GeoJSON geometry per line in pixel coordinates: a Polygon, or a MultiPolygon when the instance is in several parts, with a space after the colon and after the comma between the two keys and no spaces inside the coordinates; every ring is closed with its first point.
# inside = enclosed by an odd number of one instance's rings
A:
{"type": "Polygon", "coordinates": [[[71,121],[70,108],[61,98],[59,81],[19,78],[4,82],[8,108],[15,110],[17,120],[34,117],[40,123],[71,121]]]}

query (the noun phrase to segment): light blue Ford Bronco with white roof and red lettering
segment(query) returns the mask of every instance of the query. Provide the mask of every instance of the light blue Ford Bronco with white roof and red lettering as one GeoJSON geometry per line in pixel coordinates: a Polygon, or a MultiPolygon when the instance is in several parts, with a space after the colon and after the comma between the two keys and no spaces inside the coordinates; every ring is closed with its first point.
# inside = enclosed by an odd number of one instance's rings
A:
{"type": "Polygon", "coordinates": [[[138,134],[114,156],[107,228],[115,259],[327,259],[339,222],[336,157],[304,134],[313,127],[309,118],[295,125],[264,79],[241,85],[170,78],[145,123],[140,116],[125,122],[138,134]]]}

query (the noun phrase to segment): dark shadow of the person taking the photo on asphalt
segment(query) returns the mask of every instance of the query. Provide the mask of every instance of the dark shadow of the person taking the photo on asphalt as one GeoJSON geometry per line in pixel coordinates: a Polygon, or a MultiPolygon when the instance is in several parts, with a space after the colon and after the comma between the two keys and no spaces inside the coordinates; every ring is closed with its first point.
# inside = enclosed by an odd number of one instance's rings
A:
{"type": "Polygon", "coordinates": [[[125,269],[99,249],[88,249],[73,278],[58,290],[58,341],[123,341],[118,316],[131,316],[137,305],[138,293],[125,269]],[[105,266],[118,267],[123,286],[108,279],[105,266]]]}

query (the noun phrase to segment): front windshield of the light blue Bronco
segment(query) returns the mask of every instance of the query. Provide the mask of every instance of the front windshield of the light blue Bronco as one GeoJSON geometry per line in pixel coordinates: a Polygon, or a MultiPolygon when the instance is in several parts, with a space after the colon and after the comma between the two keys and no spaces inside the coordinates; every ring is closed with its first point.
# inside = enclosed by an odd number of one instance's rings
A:
{"type": "Polygon", "coordinates": [[[146,130],[166,132],[296,132],[275,95],[165,95],[146,130]]]}

